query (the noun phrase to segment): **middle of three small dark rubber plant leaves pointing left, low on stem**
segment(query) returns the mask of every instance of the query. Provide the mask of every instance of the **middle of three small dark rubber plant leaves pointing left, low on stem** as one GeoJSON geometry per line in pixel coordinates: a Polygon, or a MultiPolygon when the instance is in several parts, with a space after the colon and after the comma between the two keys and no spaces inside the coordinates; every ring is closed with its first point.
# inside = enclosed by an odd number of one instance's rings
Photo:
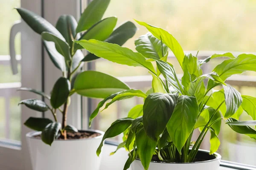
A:
{"type": "Polygon", "coordinates": [[[40,112],[45,112],[49,109],[47,104],[39,99],[25,99],[20,101],[18,105],[20,104],[26,105],[26,107],[40,112]]]}

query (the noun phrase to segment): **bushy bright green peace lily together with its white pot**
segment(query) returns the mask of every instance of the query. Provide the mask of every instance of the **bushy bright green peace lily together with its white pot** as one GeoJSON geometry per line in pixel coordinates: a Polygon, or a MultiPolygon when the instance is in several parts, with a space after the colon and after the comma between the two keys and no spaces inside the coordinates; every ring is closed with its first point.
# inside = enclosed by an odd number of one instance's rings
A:
{"type": "Polygon", "coordinates": [[[112,123],[103,136],[97,155],[101,153],[105,139],[124,133],[124,142],[117,147],[125,147],[129,151],[124,170],[130,165],[133,170],[218,170],[221,156],[215,152],[220,145],[218,134],[221,120],[225,120],[237,133],[256,139],[256,130],[247,126],[255,125],[255,121],[238,120],[243,111],[256,118],[256,98],[243,96],[225,83],[233,74],[256,71],[256,56],[241,54],[234,57],[231,53],[225,53],[198,59],[192,54],[184,54],[169,32],[136,22],[150,32],[135,41],[138,52],[98,40],[75,41],[98,57],[119,64],[144,67],[153,77],[152,88],[146,93],[129,89],[111,94],[91,114],[90,123],[108,100],[111,102],[106,103],[104,109],[118,100],[133,96],[144,98],[144,104],[132,108],[127,118],[112,123]],[[174,66],[167,62],[168,48],[183,70],[181,80],[174,66]],[[212,73],[203,74],[201,66],[216,57],[228,59],[217,65],[212,73]],[[151,62],[156,62],[156,69],[151,62]],[[217,86],[222,89],[213,90],[217,86]],[[201,132],[196,141],[192,141],[194,130],[201,132]],[[211,134],[210,150],[200,150],[208,131],[211,134]]]}

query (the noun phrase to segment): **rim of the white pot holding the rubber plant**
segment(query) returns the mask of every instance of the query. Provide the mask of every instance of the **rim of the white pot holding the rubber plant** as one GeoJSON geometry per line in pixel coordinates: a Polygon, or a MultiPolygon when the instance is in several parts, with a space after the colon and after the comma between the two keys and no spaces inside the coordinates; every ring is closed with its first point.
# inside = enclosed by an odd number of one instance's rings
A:
{"type": "MultiPolygon", "coordinates": [[[[82,140],[93,140],[93,139],[100,139],[100,138],[103,138],[104,136],[104,132],[102,132],[101,130],[92,130],[92,129],[87,129],[87,130],[79,130],[79,131],[82,131],[82,132],[95,132],[95,133],[99,133],[100,135],[99,136],[96,136],[94,138],[84,138],[84,139],[67,139],[67,140],[63,140],[63,139],[55,139],[54,141],[61,141],[61,142],[67,142],[67,141],[82,141],[82,140]]],[[[27,138],[30,138],[30,139],[33,139],[33,140],[41,140],[39,138],[35,138],[34,136],[35,135],[40,135],[42,132],[41,131],[31,131],[29,133],[26,133],[26,137],[27,138]]]]}

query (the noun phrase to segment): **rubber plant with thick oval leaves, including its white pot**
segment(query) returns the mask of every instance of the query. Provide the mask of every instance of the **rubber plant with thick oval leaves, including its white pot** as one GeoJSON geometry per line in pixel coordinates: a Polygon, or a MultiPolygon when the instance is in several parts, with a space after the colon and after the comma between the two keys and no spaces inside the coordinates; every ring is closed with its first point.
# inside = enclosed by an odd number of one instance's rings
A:
{"type": "Polygon", "coordinates": [[[115,28],[116,17],[102,20],[109,3],[110,0],[93,0],[78,23],[71,15],[61,15],[55,27],[37,14],[17,8],[28,26],[41,34],[50,59],[62,72],[62,77],[55,82],[50,95],[31,88],[20,88],[48,100],[44,102],[39,99],[25,99],[19,105],[26,105],[35,111],[49,111],[54,118],[30,117],[24,123],[30,129],[36,130],[26,135],[34,170],[99,169],[100,159],[93,150],[100,144],[104,133],[99,130],[77,130],[76,127],[67,125],[67,114],[70,96],[75,93],[92,98],[105,98],[129,89],[125,83],[108,74],[97,71],[81,72],[84,62],[99,57],[91,53],[84,57],[82,47],[73,42],[93,38],[123,45],[134,36],[137,28],[132,22],[125,22],[115,28]],[[57,119],[59,113],[62,115],[61,120],[57,119]]]}

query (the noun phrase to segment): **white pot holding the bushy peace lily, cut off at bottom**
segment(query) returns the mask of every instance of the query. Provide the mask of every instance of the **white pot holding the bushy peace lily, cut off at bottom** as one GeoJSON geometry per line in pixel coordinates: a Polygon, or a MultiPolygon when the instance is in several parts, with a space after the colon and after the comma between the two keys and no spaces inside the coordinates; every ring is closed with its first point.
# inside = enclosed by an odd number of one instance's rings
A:
{"type": "MultiPolygon", "coordinates": [[[[198,154],[209,154],[207,150],[199,150],[198,154]]],[[[151,161],[148,170],[219,170],[221,155],[214,153],[215,158],[209,161],[190,163],[169,163],[151,161]]],[[[140,159],[135,159],[131,164],[132,170],[144,170],[140,159]]]]}

